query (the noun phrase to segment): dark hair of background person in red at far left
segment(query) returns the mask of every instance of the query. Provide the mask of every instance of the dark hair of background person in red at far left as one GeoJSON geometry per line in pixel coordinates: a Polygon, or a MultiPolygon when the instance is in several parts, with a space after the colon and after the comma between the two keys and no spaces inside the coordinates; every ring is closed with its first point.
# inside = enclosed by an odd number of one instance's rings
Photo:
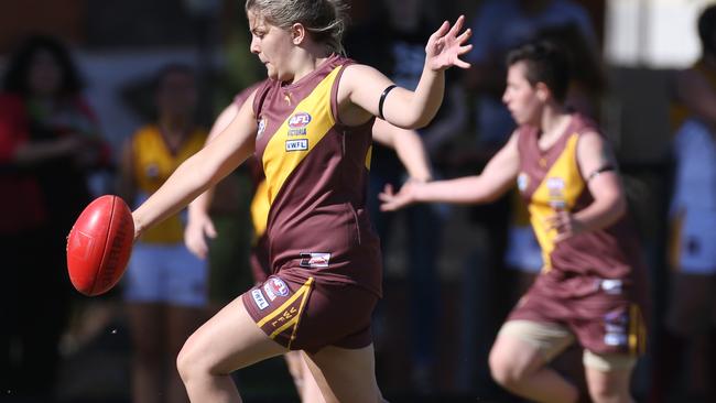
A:
{"type": "Polygon", "coordinates": [[[48,35],[32,35],[10,56],[3,77],[2,87],[8,92],[26,96],[30,92],[30,64],[37,52],[46,51],[57,62],[62,70],[61,95],[75,95],[79,92],[84,83],[79,70],[72,59],[67,47],[59,40],[48,35]]]}

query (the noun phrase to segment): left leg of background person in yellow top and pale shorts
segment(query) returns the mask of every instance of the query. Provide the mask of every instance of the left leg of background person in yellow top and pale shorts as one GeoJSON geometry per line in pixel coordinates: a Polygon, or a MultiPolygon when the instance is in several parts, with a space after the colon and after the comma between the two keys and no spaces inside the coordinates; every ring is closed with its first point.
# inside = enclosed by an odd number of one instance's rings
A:
{"type": "Polygon", "coordinates": [[[132,339],[132,402],[161,403],[164,375],[161,304],[128,303],[132,339]]]}

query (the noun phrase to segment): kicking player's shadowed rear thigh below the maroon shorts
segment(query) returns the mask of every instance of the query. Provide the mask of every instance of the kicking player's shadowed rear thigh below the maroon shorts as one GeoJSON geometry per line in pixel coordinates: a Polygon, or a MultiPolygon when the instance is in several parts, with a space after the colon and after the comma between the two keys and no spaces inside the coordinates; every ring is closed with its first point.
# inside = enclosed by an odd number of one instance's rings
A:
{"type": "Polygon", "coordinates": [[[326,402],[383,402],[376,381],[372,345],[355,350],[328,346],[306,357],[326,402]]]}

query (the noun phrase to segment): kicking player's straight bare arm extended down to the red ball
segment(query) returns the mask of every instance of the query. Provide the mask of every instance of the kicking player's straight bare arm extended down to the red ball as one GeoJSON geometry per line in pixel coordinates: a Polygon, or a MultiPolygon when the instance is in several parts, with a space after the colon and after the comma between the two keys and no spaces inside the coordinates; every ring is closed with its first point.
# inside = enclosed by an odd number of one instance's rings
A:
{"type": "Polygon", "coordinates": [[[226,130],[182,163],[164,185],[134,210],[135,236],[180,211],[251,154],[257,132],[252,104],[253,96],[243,104],[226,130]]]}

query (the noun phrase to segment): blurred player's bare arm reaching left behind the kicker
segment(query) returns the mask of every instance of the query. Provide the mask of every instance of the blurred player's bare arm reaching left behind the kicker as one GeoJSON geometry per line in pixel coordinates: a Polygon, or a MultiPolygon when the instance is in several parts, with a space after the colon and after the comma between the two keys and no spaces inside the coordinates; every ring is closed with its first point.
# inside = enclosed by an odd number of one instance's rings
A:
{"type": "Polygon", "coordinates": [[[398,194],[392,187],[378,197],[383,211],[397,210],[413,203],[456,204],[489,203],[509,190],[519,171],[517,134],[488,162],[480,175],[430,183],[406,183],[398,194]]]}

